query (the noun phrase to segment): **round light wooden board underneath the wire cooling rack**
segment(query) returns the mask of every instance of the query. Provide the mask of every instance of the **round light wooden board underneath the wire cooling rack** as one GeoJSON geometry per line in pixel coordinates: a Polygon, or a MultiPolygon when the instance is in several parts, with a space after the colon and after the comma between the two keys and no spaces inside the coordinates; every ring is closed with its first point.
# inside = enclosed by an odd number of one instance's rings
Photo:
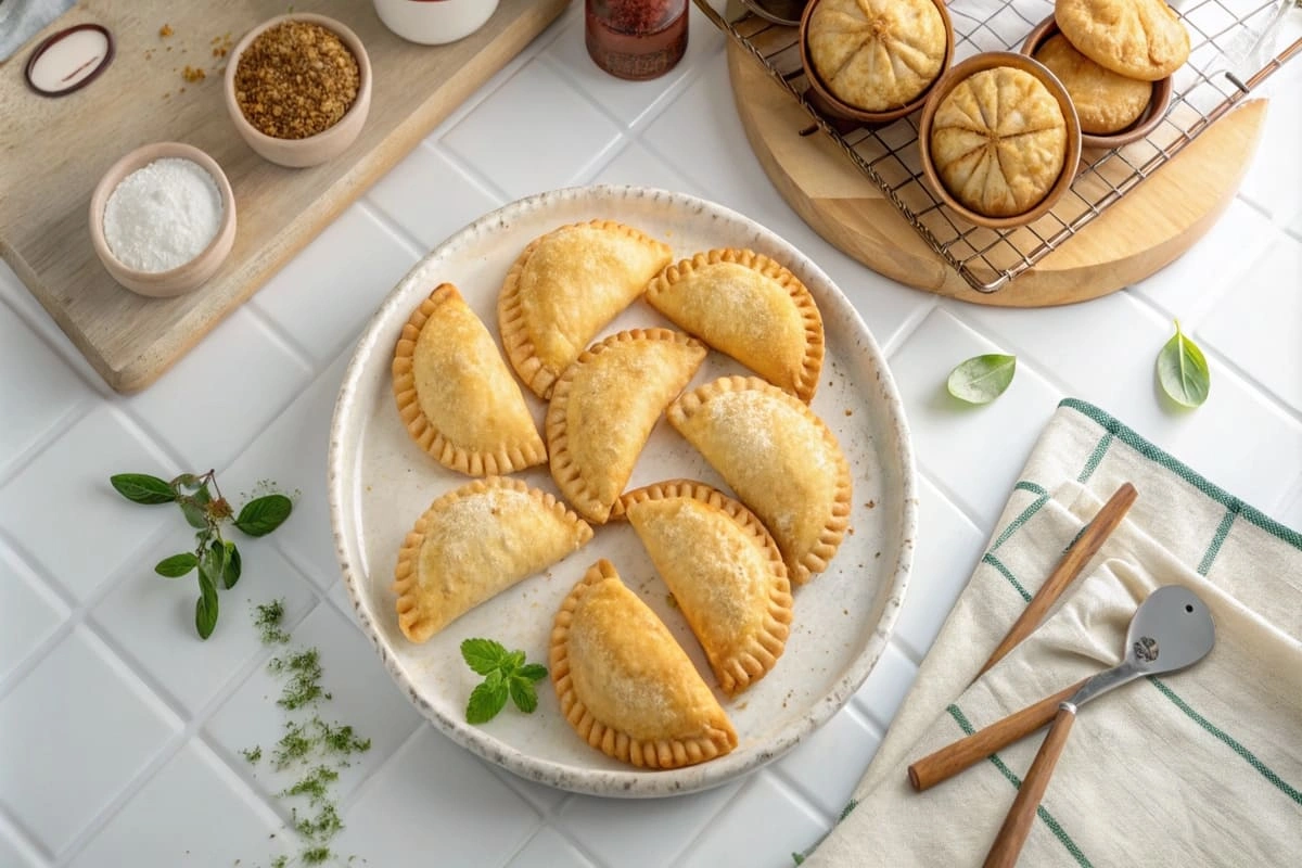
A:
{"type": "Polygon", "coordinates": [[[1247,100],[1034,268],[993,293],[973,289],[736,40],[733,98],[779,193],[829,243],[902,284],[979,305],[1044,307],[1098,298],[1189,250],[1229,206],[1256,150],[1266,100],[1247,100]]]}

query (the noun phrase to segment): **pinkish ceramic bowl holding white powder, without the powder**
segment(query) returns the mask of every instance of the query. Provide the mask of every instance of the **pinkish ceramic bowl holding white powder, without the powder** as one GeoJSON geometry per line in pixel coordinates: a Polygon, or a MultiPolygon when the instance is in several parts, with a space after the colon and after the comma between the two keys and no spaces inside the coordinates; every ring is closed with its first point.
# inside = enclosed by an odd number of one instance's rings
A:
{"type": "Polygon", "coordinates": [[[230,182],[217,161],[193,144],[181,142],[145,144],[109,167],[99,183],[95,185],[90,197],[90,241],[95,247],[95,255],[104,263],[104,268],[113,276],[113,280],[133,293],[151,298],[182,295],[198,289],[212,277],[230,252],[230,246],[236,241],[236,197],[230,191],[230,182]],[[104,206],[108,204],[109,195],[122,182],[122,178],[154,160],[164,157],[182,157],[198,163],[212,176],[217,191],[221,194],[221,225],[208,246],[190,262],[169,271],[137,271],[122,264],[109,249],[108,239],[104,237],[104,206]]]}

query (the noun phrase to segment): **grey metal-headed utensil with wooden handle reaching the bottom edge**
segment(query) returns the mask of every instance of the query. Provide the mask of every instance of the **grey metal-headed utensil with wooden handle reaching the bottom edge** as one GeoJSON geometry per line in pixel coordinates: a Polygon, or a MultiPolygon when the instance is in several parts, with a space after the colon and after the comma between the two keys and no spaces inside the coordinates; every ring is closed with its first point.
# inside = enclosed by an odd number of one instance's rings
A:
{"type": "Polygon", "coordinates": [[[1017,790],[1013,807],[986,856],[986,868],[1010,868],[1026,842],[1035,809],[1066,744],[1077,709],[1095,696],[1141,675],[1160,675],[1191,666],[1216,644],[1212,616],[1198,596],[1178,584],[1167,584],[1144,600],[1126,631],[1126,658],[1120,666],[1094,675],[1070,699],[1059,705],[1057,717],[1040,744],[1031,770],[1017,790]]]}

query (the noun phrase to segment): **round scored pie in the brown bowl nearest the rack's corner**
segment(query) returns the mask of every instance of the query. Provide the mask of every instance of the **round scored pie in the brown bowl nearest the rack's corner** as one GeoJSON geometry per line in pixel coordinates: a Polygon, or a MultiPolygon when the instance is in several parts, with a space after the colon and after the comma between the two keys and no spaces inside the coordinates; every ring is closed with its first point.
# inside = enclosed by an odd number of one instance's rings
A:
{"type": "Polygon", "coordinates": [[[973,73],[940,100],[931,152],[945,189],[973,211],[1034,208],[1066,164],[1066,118],[1035,75],[1012,66],[973,73]]]}

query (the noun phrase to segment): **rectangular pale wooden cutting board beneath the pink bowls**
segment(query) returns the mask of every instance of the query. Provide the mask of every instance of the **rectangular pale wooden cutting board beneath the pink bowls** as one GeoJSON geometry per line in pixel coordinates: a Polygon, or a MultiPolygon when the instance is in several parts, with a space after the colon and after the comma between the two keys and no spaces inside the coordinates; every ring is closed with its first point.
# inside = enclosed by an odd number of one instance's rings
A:
{"type": "MultiPolygon", "coordinates": [[[[466,39],[419,46],[393,35],[363,0],[87,0],[0,64],[0,255],[118,392],[152,383],[250,298],[350,202],[564,12],[568,0],[501,0],[466,39]],[[361,38],[374,74],[366,128],[319,167],[286,169],[254,154],[221,98],[214,48],[286,8],[329,16],[361,38]],[[108,27],[116,57],[87,87],[38,96],[22,68],[44,36],[74,23],[108,27]],[[169,36],[160,29],[168,25],[169,36]],[[203,69],[198,82],[185,66],[203,69]],[[194,293],[151,299],[108,276],[87,230],[90,195],[120,156],[148,142],[207,151],[230,180],[238,230],[221,269],[194,293]]],[[[323,288],[327,293],[327,288],[323,288]]],[[[323,295],[328,303],[328,294],[323,295]]]]}

